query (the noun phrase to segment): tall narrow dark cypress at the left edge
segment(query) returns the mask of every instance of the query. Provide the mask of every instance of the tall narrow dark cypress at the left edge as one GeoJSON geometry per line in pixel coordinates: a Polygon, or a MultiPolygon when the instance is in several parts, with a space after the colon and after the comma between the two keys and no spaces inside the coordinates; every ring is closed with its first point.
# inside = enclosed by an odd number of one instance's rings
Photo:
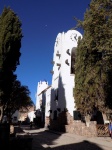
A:
{"type": "Polygon", "coordinates": [[[7,104],[12,93],[14,71],[21,56],[22,29],[18,16],[8,7],[0,16],[0,104],[7,104]]]}

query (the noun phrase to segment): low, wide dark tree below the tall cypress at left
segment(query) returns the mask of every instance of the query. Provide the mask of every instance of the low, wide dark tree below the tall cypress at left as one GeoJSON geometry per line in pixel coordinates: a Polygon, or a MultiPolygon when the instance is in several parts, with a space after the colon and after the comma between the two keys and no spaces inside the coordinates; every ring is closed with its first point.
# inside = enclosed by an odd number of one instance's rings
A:
{"type": "Polygon", "coordinates": [[[27,86],[21,85],[20,81],[15,80],[12,86],[12,93],[5,105],[5,110],[9,114],[9,118],[16,111],[22,108],[34,106],[30,97],[30,91],[27,86]]]}

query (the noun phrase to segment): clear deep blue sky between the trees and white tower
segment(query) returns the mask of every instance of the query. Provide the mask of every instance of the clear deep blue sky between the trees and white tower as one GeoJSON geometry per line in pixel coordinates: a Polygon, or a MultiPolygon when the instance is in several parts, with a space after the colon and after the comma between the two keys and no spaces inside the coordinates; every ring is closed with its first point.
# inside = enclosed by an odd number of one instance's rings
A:
{"type": "Polygon", "coordinates": [[[4,6],[18,15],[22,22],[22,46],[17,79],[28,86],[35,103],[37,83],[51,84],[54,43],[59,32],[75,27],[74,17],[83,20],[91,0],[0,0],[0,14],[4,6]]]}

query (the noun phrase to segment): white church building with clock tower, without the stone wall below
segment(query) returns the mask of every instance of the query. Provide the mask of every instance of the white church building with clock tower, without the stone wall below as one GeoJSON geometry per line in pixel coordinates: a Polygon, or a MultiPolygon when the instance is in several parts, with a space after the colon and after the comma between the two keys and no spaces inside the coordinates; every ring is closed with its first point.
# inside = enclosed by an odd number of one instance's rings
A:
{"type": "Polygon", "coordinates": [[[82,35],[76,30],[69,30],[57,35],[51,70],[52,84],[48,85],[46,81],[38,82],[36,110],[37,116],[41,116],[45,127],[49,126],[53,120],[57,120],[63,112],[69,114],[67,124],[70,122],[70,118],[73,119],[75,110],[74,65],[79,38],[82,38],[82,35]]]}

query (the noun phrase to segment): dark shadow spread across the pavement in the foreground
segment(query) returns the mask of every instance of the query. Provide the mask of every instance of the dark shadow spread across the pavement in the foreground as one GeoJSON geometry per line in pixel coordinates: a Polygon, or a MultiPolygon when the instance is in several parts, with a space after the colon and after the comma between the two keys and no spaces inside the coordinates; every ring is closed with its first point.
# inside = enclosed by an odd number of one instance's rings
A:
{"type": "MultiPolygon", "coordinates": [[[[25,130],[27,130],[27,128],[25,130]]],[[[98,145],[88,141],[76,143],[77,139],[72,144],[66,144],[67,142],[64,141],[60,146],[58,145],[57,140],[60,139],[61,135],[49,131],[40,131],[38,129],[36,130],[37,132],[33,132],[34,129],[30,131],[32,132],[31,136],[29,136],[30,139],[25,138],[24,136],[13,139],[10,145],[11,150],[103,150],[98,145]]]]}

